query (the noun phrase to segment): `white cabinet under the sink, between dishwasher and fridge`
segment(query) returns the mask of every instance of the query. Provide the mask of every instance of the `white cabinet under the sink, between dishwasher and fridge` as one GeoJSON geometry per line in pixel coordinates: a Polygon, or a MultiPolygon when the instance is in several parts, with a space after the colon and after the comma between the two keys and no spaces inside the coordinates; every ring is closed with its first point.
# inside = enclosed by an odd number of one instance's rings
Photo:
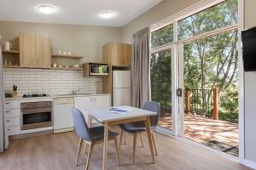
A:
{"type": "Polygon", "coordinates": [[[89,109],[108,109],[111,106],[110,95],[92,95],[74,97],[74,107],[82,111],[85,119],[88,118],[86,110],[89,109]]]}

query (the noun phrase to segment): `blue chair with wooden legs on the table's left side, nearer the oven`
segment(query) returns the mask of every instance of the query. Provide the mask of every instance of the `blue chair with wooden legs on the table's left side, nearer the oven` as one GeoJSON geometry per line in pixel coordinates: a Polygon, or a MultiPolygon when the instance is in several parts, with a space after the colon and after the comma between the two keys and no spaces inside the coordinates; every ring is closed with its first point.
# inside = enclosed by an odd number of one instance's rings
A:
{"type": "MultiPolygon", "coordinates": [[[[80,155],[80,151],[81,151],[83,141],[84,141],[85,144],[88,144],[90,146],[88,157],[87,157],[87,162],[86,162],[86,166],[85,166],[85,169],[87,170],[90,165],[90,159],[92,156],[92,151],[93,151],[94,145],[103,143],[104,127],[102,127],[102,126],[88,127],[87,123],[84,120],[84,116],[83,116],[82,112],[79,111],[78,109],[73,108],[72,114],[73,114],[73,122],[74,122],[74,126],[75,126],[75,131],[80,138],[79,139],[78,155],[77,155],[75,165],[76,166],[78,165],[79,155],[80,155]]],[[[111,131],[108,132],[108,140],[114,141],[115,150],[116,150],[116,158],[117,158],[117,162],[119,165],[119,150],[118,150],[118,144],[117,144],[117,136],[118,135],[119,135],[119,133],[114,133],[111,131]]]]}

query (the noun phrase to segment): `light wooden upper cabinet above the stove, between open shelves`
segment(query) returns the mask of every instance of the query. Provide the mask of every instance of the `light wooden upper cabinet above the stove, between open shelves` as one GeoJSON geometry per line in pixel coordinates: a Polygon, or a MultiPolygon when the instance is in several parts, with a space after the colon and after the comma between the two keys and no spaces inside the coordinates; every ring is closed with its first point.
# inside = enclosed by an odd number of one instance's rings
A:
{"type": "Polygon", "coordinates": [[[49,36],[20,33],[20,67],[49,68],[50,65],[49,36]]]}

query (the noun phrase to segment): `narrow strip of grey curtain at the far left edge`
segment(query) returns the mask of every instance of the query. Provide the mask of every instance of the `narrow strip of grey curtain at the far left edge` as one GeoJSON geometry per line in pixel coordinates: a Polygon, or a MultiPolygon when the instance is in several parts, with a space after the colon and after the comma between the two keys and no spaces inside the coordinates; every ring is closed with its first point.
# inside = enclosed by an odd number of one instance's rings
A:
{"type": "MultiPolygon", "coordinates": [[[[1,35],[0,35],[0,42],[1,42],[1,35]]],[[[2,57],[2,50],[0,47],[0,152],[3,152],[4,148],[4,123],[3,123],[3,102],[4,102],[4,89],[3,89],[3,57],[2,57]]]]}

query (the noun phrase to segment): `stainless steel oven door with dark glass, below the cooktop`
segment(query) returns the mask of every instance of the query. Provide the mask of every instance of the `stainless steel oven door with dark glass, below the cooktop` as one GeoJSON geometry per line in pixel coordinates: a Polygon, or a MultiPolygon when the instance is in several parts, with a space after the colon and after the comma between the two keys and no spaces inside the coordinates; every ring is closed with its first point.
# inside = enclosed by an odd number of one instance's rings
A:
{"type": "Polygon", "coordinates": [[[52,127],[52,108],[34,108],[21,110],[21,130],[52,127]]]}

